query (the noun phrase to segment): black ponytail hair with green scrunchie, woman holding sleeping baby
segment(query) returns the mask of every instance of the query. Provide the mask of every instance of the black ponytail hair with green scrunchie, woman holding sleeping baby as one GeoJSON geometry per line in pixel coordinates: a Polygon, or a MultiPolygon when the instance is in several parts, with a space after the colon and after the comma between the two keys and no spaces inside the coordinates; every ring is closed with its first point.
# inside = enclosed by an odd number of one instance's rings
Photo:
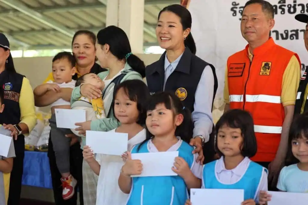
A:
{"type": "Polygon", "coordinates": [[[107,26],[101,29],[97,34],[97,42],[100,45],[109,45],[110,52],[122,60],[126,58],[128,65],[136,72],[145,77],[144,62],[134,54],[131,54],[132,49],[129,40],[124,30],[116,26],[107,26]],[[127,57],[128,55],[128,57],[127,57]]]}

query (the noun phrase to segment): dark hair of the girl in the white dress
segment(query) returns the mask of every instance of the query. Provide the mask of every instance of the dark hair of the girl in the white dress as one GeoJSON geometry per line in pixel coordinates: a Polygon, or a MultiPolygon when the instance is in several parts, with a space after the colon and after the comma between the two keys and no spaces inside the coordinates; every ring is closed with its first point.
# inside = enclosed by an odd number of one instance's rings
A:
{"type": "MultiPolygon", "coordinates": [[[[147,118],[147,102],[150,98],[150,91],[148,86],[141,80],[127,80],[120,83],[114,92],[114,96],[111,103],[111,108],[115,106],[115,96],[118,91],[123,88],[129,100],[137,103],[137,109],[139,111],[139,117],[137,123],[143,126],[145,124],[145,119],[147,118]]],[[[115,111],[113,109],[113,115],[115,116],[115,111]]]]}

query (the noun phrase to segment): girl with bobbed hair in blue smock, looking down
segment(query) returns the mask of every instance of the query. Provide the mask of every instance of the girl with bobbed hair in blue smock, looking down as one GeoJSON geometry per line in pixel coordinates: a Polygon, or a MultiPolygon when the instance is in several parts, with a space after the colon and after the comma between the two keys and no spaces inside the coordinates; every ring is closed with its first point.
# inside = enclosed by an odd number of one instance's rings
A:
{"type": "MultiPolygon", "coordinates": [[[[204,165],[202,188],[243,189],[242,205],[255,205],[260,191],[267,191],[268,171],[249,159],[257,152],[251,115],[239,109],[225,112],[216,133],[215,149],[221,158],[204,165]]],[[[186,205],[191,205],[189,200],[186,205]]]]}

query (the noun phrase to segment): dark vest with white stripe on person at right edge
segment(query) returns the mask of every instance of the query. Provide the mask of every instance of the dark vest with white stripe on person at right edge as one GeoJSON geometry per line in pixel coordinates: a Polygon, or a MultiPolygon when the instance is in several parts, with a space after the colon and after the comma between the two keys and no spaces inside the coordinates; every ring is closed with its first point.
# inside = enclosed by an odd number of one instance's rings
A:
{"type": "MultiPolygon", "coordinates": [[[[301,77],[301,81],[299,82],[299,87],[298,87],[296,101],[295,101],[294,115],[301,113],[302,105],[305,102],[304,95],[305,95],[306,87],[308,84],[307,72],[308,72],[308,66],[306,67],[305,73],[301,77]]],[[[308,99],[306,99],[306,103],[304,106],[304,112],[307,112],[307,111],[308,111],[308,99]]]]}

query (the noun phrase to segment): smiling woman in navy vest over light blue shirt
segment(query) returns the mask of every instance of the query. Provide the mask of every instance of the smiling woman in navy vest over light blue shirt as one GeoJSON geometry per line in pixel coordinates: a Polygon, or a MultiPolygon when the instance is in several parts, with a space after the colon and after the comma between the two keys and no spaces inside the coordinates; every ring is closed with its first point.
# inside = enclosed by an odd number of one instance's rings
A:
{"type": "Polygon", "coordinates": [[[194,129],[191,145],[199,152],[197,161],[213,158],[214,136],[212,106],[217,90],[217,77],[213,65],[195,56],[196,45],[190,33],[192,17],[178,4],[163,8],[158,14],[156,37],[166,49],[160,59],[146,68],[146,79],[151,94],[172,91],[192,112],[194,129]],[[205,156],[202,145],[208,142],[205,156]],[[205,158],[204,158],[205,157],[205,158]]]}

